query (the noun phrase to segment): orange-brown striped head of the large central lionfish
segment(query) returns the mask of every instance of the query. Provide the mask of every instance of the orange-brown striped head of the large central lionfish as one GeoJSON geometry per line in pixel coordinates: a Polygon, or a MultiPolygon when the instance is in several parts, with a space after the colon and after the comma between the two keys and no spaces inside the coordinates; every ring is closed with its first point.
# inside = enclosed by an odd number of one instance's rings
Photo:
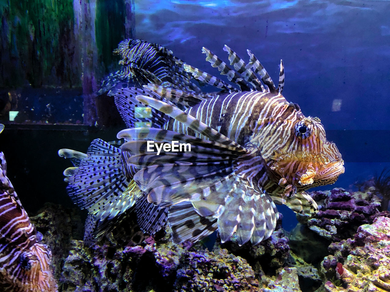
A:
{"type": "Polygon", "coordinates": [[[344,173],[344,161],[335,143],[326,140],[319,118],[285,120],[282,142],[271,153],[270,168],[298,190],[335,183],[344,173]]]}

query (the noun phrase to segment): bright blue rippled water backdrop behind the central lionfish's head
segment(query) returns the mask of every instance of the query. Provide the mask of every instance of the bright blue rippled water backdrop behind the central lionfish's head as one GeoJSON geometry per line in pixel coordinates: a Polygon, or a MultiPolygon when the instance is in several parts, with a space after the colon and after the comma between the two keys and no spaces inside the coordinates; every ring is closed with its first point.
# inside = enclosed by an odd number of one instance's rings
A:
{"type": "MultiPolygon", "coordinates": [[[[138,1],[137,38],[167,46],[201,70],[202,47],[254,53],[273,80],[283,59],[284,97],[321,118],[346,162],[347,188],[390,166],[388,1],[138,1]]],[[[224,78],[222,75],[216,75],[224,78]]],[[[227,80],[227,79],[223,79],[227,80]]]]}

